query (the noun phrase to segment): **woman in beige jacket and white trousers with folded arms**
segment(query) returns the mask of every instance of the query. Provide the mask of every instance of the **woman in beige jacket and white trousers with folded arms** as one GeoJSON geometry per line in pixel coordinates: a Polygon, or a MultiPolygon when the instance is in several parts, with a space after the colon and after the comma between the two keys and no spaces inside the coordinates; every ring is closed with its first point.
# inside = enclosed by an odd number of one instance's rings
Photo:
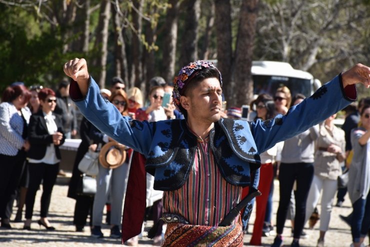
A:
{"type": "Polygon", "coordinates": [[[340,163],[345,158],[344,131],[334,125],[335,116],[336,114],[328,117],[319,126],[313,162],[313,179],[306,202],[305,221],[311,216],[322,190],[320,235],[317,247],[324,246],[324,237],[329,227],[332,203],[337,189],[337,178],[341,173],[340,163]]]}

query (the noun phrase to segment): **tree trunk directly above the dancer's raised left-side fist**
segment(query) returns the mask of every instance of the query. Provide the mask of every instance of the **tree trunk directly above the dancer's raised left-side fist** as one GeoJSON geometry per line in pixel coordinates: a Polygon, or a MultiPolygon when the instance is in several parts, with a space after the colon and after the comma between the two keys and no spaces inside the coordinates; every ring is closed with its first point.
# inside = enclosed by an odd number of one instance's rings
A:
{"type": "Polygon", "coordinates": [[[73,33],[77,38],[71,44],[71,50],[75,52],[87,52],[89,41],[90,24],[90,0],[85,0],[81,7],[76,9],[76,19],[73,25],[73,33]]]}

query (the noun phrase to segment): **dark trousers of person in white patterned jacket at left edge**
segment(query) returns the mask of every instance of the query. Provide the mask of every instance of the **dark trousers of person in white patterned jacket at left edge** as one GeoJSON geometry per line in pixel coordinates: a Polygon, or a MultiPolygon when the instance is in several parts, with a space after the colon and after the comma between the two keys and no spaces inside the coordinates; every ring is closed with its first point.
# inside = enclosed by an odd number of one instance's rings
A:
{"type": "Polygon", "coordinates": [[[0,154],[0,217],[9,218],[6,206],[19,184],[25,163],[25,152],[18,151],[15,156],[0,154]]]}

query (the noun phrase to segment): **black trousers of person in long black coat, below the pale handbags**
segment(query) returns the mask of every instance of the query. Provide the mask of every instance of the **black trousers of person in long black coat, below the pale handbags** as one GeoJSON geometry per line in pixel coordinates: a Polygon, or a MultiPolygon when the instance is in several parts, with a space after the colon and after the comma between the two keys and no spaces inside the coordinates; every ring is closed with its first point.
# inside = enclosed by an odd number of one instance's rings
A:
{"type": "Polygon", "coordinates": [[[93,196],[76,196],[76,204],[74,205],[73,224],[84,226],[87,216],[90,215],[90,223],[92,225],[92,205],[94,203],[93,196]]]}

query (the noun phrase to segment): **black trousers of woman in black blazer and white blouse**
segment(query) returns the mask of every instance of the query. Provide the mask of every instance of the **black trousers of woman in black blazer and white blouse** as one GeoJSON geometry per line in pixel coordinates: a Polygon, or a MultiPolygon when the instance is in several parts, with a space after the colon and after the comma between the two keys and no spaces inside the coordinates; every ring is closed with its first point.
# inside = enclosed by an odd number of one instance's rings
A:
{"type": "Polygon", "coordinates": [[[40,217],[46,217],[50,205],[51,191],[59,171],[59,163],[28,163],[29,184],[25,196],[25,218],[32,218],[34,199],[42,180],[40,217]]]}

